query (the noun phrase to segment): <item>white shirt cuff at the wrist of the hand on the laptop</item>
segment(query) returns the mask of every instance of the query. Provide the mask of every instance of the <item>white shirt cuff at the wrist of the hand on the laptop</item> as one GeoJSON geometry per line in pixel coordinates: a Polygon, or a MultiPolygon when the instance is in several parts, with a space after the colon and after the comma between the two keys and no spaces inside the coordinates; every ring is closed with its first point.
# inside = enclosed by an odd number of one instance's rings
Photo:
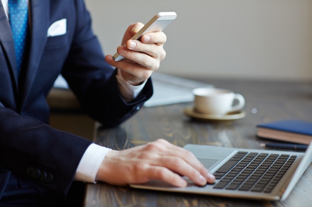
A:
{"type": "Polygon", "coordinates": [[[101,163],[111,148],[92,143],[83,154],[76,170],[75,180],[96,183],[95,178],[101,163]]]}

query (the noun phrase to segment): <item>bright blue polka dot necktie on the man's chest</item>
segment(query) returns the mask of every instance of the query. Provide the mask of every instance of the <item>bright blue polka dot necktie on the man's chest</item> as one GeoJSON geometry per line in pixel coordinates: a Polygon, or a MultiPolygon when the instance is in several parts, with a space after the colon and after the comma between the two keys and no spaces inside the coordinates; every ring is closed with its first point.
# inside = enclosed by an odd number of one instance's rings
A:
{"type": "Polygon", "coordinates": [[[26,0],[8,0],[8,11],[14,39],[17,74],[19,74],[27,35],[28,5],[26,0]]]}

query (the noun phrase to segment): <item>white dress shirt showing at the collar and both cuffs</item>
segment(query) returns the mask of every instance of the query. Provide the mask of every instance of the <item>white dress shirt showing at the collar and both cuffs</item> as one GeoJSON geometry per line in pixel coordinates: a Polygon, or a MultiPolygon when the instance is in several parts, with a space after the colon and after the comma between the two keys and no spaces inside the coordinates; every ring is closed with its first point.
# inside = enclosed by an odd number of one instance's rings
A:
{"type": "MultiPolygon", "coordinates": [[[[1,0],[6,17],[8,18],[8,0],[1,0]]],[[[28,0],[27,0],[28,2],[28,0]]],[[[118,69],[116,75],[118,81],[119,91],[126,102],[131,101],[141,92],[145,86],[146,81],[138,86],[133,86],[129,84],[121,75],[118,69]]],[[[76,170],[75,180],[95,183],[96,174],[100,168],[100,165],[106,156],[106,154],[111,150],[110,148],[100,146],[98,144],[92,143],[85,153],[83,154],[79,165],[76,170]]]]}

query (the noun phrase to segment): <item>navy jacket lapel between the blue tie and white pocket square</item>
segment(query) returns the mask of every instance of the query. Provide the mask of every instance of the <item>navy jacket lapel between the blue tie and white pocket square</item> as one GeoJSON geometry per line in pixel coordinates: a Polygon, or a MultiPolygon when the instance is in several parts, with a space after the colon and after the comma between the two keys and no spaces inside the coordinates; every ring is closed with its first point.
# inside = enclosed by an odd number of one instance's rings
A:
{"type": "Polygon", "coordinates": [[[47,30],[49,27],[49,0],[29,0],[30,5],[30,48],[28,55],[28,65],[26,77],[23,83],[22,100],[28,96],[32,87],[44,45],[47,40],[47,30]]]}

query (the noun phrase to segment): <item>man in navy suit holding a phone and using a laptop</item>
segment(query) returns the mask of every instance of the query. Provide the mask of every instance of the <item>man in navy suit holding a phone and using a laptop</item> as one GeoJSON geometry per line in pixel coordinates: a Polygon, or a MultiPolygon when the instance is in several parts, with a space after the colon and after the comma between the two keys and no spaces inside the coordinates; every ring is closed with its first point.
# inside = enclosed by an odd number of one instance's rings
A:
{"type": "Polygon", "coordinates": [[[126,60],[115,62],[104,57],[83,0],[25,2],[28,27],[18,69],[10,0],[0,0],[0,206],[61,206],[79,182],[159,179],[183,187],[180,175],[198,185],[214,181],[190,152],[162,139],[116,151],[49,127],[45,99],[59,74],[104,126],[134,115],[152,96],[150,76],[165,57],[166,36],[154,32],[129,40],[143,26],[130,25],[126,46],[118,47],[126,60]]]}

